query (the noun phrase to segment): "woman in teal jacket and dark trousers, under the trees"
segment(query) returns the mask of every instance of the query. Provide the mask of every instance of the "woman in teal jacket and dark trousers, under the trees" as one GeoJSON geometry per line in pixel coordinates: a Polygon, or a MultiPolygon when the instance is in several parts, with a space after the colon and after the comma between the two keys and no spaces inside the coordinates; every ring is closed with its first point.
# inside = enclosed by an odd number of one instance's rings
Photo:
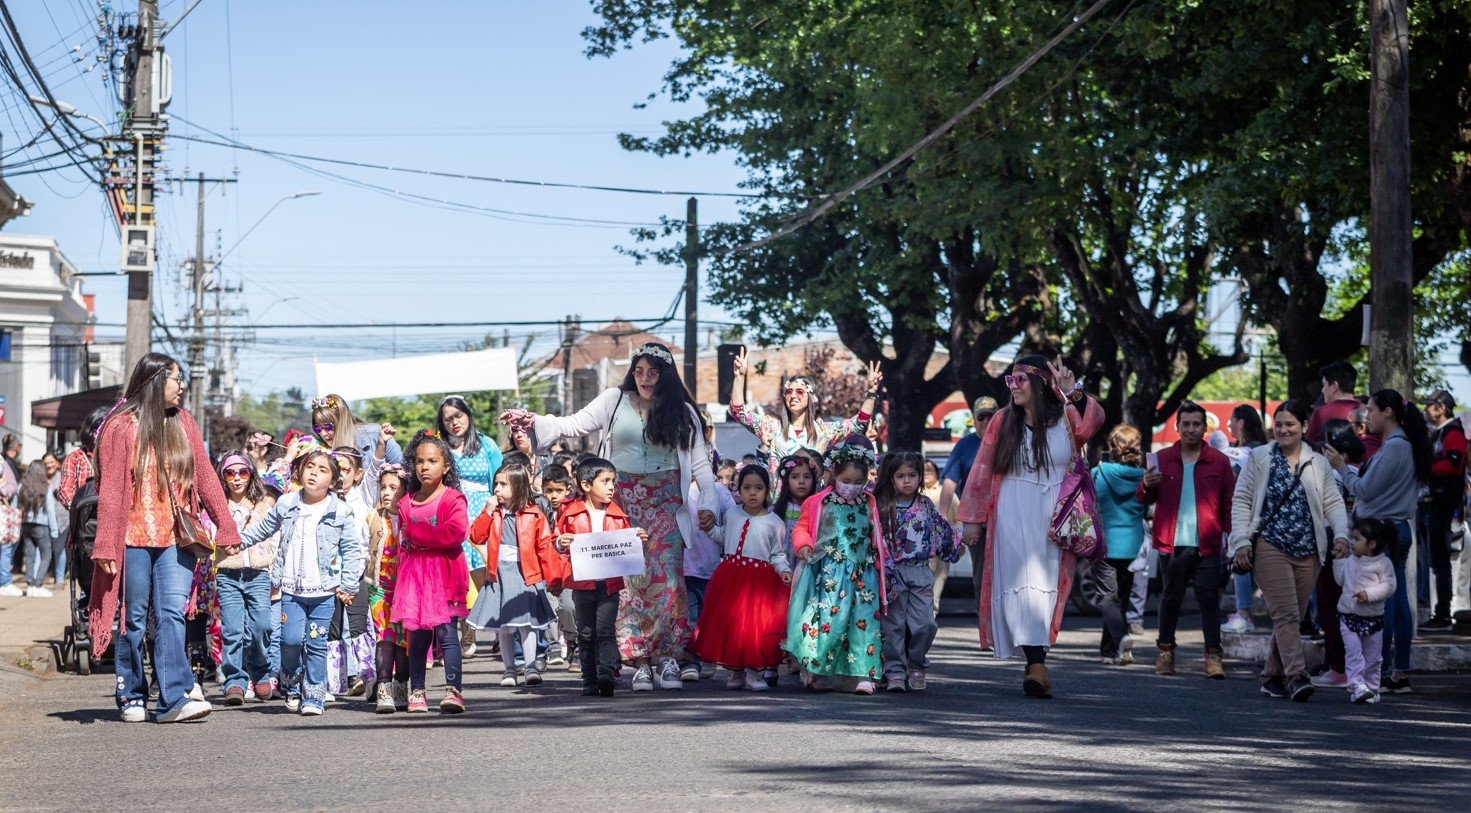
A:
{"type": "Polygon", "coordinates": [[[1103,519],[1103,541],[1108,556],[1093,566],[1093,581],[1099,588],[1099,609],[1103,612],[1103,640],[1099,654],[1103,663],[1127,666],[1134,663],[1134,638],[1128,634],[1124,604],[1134,590],[1134,572],[1128,569],[1144,544],[1144,504],[1134,498],[1144,479],[1143,437],[1134,426],[1115,426],[1108,435],[1109,459],[1093,469],[1093,485],[1099,494],[1099,515],[1103,519]]]}

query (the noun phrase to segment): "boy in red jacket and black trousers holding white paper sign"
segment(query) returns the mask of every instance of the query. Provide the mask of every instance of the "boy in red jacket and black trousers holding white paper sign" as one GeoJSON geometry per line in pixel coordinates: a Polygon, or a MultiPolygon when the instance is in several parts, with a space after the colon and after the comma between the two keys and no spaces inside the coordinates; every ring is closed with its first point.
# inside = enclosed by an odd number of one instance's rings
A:
{"type": "MultiPolygon", "coordinates": [[[[631,528],[628,515],[613,501],[618,470],[602,457],[584,460],[577,468],[581,500],[562,504],[556,519],[556,548],[566,559],[566,587],[572,590],[577,616],[577,651],[583,663],[583,697],[613,695],[613,670],[618,669],[618,592],[624,579],[575,581],[571,578],[572,535],[631,528]]],[[[638,540],[649,534],[638,529],[638,540]]]]}

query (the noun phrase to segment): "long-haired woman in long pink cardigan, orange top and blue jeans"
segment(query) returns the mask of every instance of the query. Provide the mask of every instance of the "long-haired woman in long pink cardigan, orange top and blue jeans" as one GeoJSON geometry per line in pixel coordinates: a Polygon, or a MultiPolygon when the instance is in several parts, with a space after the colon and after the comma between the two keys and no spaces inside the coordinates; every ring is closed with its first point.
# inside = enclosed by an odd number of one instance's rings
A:
{"type": "Polygon", "coordinates": [[[175,541],[175,506],[194,516],[200,509],[207,512],[218,547],[240,545],[225,493],[209,476],[213,466],[194,418],[179,406],[182,398],[178,362],[149,353],[132,368],[124,400],[103,422],[97,441],[101,475],[88,626],[93,654],[101,657],[112,644],[121,604],[116,701],[129,723],[147,719],[143,641],[150,616],[157,722],[193,720],[210,710],[202,695],[190,697],[194,672],[184,648],[184,604],[197,560],[175,541]]]}

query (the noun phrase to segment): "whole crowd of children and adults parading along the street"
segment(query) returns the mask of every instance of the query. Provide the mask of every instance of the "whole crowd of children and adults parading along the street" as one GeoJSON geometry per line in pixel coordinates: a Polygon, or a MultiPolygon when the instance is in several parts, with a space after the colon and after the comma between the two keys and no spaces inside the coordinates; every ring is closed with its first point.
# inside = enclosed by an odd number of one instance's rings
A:
{"type": "MultiPolygon", "coordinates": [[[[1090,479],[1080,460],[1103,410],[1061,359],[1039,356],[1012,365],[1008,403],[975,403],[975,434],[940,468],[915,451],[875,453],[877,368],[852,416],[819,416],[802,376],[786,381],[778,415],[734,398],[730,418],[756,435],[759,456],[722,460],[658,343],[574,415],[494,416],[505,450],[459,395],[400,448],[394,426],[363,423],[327,394],[312,403],[310,434],[279,445],[254,434],[212,457],[179,406],[177,362],[149,354],[124,398],[88,416],[81,448],[18,478],[0,466],[26,550],[26,587],[4,588],[44,597],[44,570],[60,584],[65,550],[84,553],[79,603],[94,653],[113,653],[125,722],[149,719],[150,697],[157,722],[209,714],[202,673],[218,678],[225,706],[284,700],[315,716],[346,695],[378,713],[427,713],[435,663],[438,710],[453,714],[465,710],[465,659],[481,648],[499,656],[502,687],[568,669],[590,697],[680,690],[715,667],[728,688],[756,692],[784,673],[811,691],[925,691],[938,597],[969,547],[981,647],[1024,660],[1022,691],[1046,698],[1078,572],[1056,513],[1080,466],[1102,541],[1090,578],[1103,663],[1134,662],[1140,588],[1158,559],[1158,675],[1177,672],[1193,592],[1200,670],[1225,678],[1222,632],[1255,628],[1259,590],[1271,617],[1264,694],[1343,687],[1375,703],[1411,691],[1417,538],[1436,576],[1421,629],[1450,626],[1467,443],[1449,394],[1425,413],[1390,390],[1361,401],[1353,372],[1324,369],[1318,409],[1277,406],[1271,440],[1250,406],[1227,438],[1186,401],[1180,441],[1158,453],[1119,425],[1090,479]],[[583,437],[599,438],[596,451],[566,448],[583,437]],[[583,572],[577,553],[594,534],[634,535],[641,569],[583,572]],[[1236,610],[1222,623],[1230,582],[1236,610]],[[1317,676],[1308,628],[1327,638],[1317,676]]],[[[744,354],[736,373],[740,394],[744,354]]],[[[9,548],[0,556],[10,563],[9,548]]]]}

